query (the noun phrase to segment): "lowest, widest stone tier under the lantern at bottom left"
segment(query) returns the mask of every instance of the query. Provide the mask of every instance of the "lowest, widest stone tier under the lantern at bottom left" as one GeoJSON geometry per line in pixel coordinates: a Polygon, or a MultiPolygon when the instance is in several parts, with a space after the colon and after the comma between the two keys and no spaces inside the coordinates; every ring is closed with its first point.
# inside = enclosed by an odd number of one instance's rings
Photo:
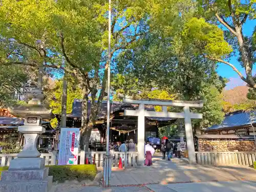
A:
{"type": "Polygon", "coordinates": [[[1,192],[48,192],[52,187],[52,176],[46,177],[42,181],[0,181],[1,192]]]}

